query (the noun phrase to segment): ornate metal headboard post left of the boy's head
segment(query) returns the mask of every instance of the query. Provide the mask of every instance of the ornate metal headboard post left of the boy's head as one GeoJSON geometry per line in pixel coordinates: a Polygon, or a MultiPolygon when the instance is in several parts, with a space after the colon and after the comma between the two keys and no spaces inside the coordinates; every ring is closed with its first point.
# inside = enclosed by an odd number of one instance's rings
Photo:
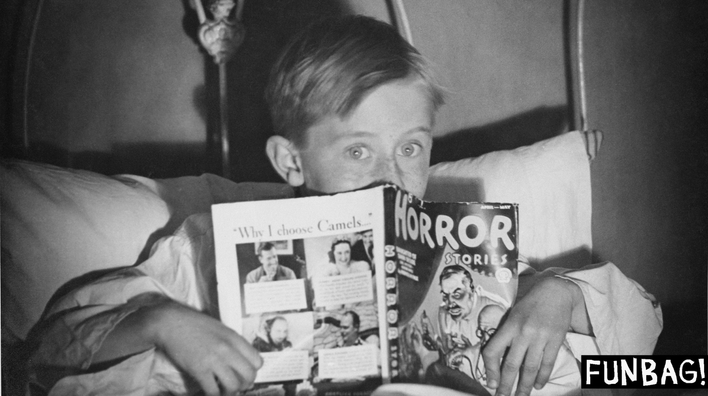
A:
{"type": "Polygon", "coordinates": [[[246,29],[241,23],[241,10],[244,0],[208,0],[212,19],[207,18],[202,0],[193,0],[199,16],[198,37],[202,47],[214,58],[219,66],[219,141],[221,141],[222,176],[230,178],[229,159],[229,115],[227,95],[226,63],[232,59],[236,50],[246,37],[246,29]],[[232,10],[236,15],[232,18],[232,10]]]}

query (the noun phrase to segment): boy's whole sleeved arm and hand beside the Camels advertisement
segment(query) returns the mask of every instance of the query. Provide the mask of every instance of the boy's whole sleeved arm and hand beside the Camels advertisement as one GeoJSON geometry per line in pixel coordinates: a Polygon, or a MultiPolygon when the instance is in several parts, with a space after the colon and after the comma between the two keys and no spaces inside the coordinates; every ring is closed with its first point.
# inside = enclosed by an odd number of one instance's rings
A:
{"type": "Polygon", "coordinates": [[[208,214],[190,217],[139,266],[107,274],[57,301],[33,330],[33,383],[45,390],[64,387],[67,394],[101,386],[118,392],[147,387],[158,375],[161,384],[177,387],[168,391],[183,392],[175,366],[207,393],[215,391],[215,377],[234,389],[250,383],[260,365],[256,351],[200,312],[215,305],[210,229],[208,214]],[[67,376],[72,378],[62,380],[67,376]]]}

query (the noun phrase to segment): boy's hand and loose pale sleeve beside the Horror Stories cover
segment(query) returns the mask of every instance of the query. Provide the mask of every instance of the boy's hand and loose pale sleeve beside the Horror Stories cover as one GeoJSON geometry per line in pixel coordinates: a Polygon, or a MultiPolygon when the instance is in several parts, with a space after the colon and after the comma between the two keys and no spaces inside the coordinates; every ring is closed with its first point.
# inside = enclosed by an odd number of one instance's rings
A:
{"type": "Polygon", "coordinates": [[[528,394],[533,385],[540,388],[568,331],[594,336],[601,354],[653,351],[661,308],[614,264],[548,269],[519,279],[521,297],[483,351],[488,379],[498,381],[498,395],[510,395],[517,374],[517,395],[528,394]]]}

